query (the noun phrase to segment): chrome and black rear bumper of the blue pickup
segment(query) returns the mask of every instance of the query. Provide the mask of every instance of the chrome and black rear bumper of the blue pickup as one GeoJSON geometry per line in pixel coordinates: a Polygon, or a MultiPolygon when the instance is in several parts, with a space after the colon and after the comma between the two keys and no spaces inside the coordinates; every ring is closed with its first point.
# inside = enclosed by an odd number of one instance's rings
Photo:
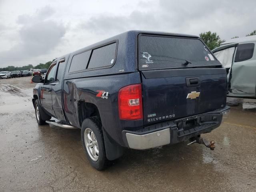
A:
{"type": "Polygon", "coordinates": [[[170,122],[167,124],[163,122],[160,123],[162,125],[158,126],[161,127],[160,130],[151,130],[150,132],[131,132],[124,130],[124,133],[129,148],[138,150],[154,148],[170,143],[174,144],[177,142],[182,142],[188,140],[193,136],[198,136],[203,133],[211,132],[213,129],[220,126],[221,122],[227,118],[229,112],[230,107],[227,106],[221,110],[215,110],[213,112],[207,112],[192,117],[186,117],[185,119],[201,119],[201,117],[203,116],[210,117],[210,120],[208,120],[208,122],[203,122],[201,126],[192,128],[191,130],[183,130],[183,128],[179,129],[176,122],[170,122]],[[213,121],[215,121],[215,123],[213,123],[213,121]]]}

